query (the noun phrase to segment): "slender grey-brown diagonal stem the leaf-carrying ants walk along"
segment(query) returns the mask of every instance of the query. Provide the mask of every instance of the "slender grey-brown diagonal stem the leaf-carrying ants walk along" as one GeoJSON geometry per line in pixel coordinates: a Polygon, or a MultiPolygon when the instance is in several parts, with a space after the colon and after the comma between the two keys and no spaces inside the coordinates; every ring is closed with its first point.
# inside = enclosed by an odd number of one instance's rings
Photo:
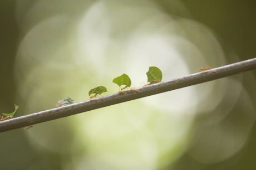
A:
{"type": "Polygon", "coordinates": [[[160,83],[139,87],[133,90],[127,90],[122,93],[111,94],[96,99],[86,100],[75,104],[58,107],[55,109],[45,110],[34,114],[15,117],[10,120],[0,122],[0,132],[14,130],[25,126],[35,125],[50,120],[60,119],[81,112],[99,109],[101,107],[120,104],[130,100],[140,99],[142,97],[160,94],[161,92],[171,91],[205,83],[220,78],[225,78],[230,75],[243,73],[245,71],[256,69],[256,58],[240,61],[238,63],[220,66],[219,68],[202,71],[200,73],[183,76],[181,78],[163,81],[160,83]],[[139,92],[137,92],[137,91],[139,92]]]}

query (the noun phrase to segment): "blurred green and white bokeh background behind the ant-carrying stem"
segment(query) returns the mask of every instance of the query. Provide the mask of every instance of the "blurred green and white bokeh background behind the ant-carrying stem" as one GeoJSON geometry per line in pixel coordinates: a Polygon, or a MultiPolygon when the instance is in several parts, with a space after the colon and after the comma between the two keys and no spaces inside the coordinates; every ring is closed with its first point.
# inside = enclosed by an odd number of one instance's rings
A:
{"type": "MultiPolygon", "coordinates": [[[[16,117],[255,57],[254,1],[1,1],[1,102],[16,117]]],[[[0,134],[1,169],[256,169],[255,74],[0,134]]]]}

